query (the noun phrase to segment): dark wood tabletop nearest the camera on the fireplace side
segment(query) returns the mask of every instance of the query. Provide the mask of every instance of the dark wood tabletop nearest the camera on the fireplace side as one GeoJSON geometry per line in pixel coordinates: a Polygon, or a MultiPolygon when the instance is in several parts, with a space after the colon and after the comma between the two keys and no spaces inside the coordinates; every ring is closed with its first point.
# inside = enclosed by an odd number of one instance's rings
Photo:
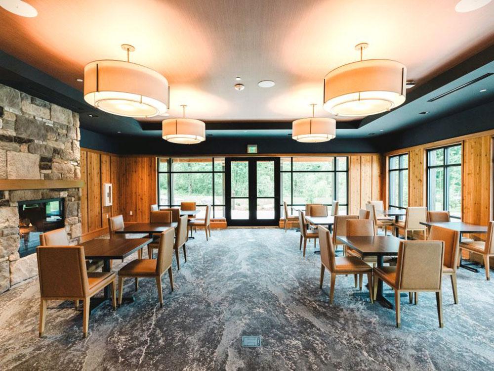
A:
{"type": "Polygon", "coordinates": [[[124,259],[152,241],[152,238],[97,238],[82,242],[79,246],[84,247],[86,259],[124,259]]]}

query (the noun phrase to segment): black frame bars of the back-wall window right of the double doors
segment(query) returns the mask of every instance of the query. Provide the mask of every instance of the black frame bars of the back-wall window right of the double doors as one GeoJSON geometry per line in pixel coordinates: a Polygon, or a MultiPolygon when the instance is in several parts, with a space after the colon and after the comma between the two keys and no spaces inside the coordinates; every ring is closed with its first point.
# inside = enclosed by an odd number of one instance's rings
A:
{"type": "MultiPolygon", "coordinates": [[[[287,203],[287,207],[292,208],[294,206],[305,206],[305,204],[294,204],[293,203],[293,173],[333,173],[332,174],[332,181],[333,181],[333,200],[338,200],[338,185],[337,185],[337,174],[338,173],[346,173],[346,203],[339,203],[339,206],[346,206],[347,208],[347,213],[348,213],[348,201],[349,201],[349,156],[281,156],[281,158],[289,158],[290,159],[290,170],[283,170],[283,166],[280,166],[280,190],[281,190],[281,197],[280,197],[280,207],[283,207],[283,173],[289,173],[290,174],[290,202],[287,203]],[[327,157],[327,158],[332,158],[333,162],[333,170],[293,170],[293,158],[303,158],[303,157],[327,157]],[[336,159],[337,158],[345,158],[346,161],[346,170],[337,170],[336,167],[336,159]]],[[[328,204],[323,204],[325,206],[332,206],[332,202],[328,204]]]]}

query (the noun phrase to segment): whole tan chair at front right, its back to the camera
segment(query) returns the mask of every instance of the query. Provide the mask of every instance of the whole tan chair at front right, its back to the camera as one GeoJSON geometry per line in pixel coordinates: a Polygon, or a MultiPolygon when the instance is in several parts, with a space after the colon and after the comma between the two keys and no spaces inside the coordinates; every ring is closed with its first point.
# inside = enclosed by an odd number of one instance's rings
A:
{"type": "Polygon", "coordinates": [[[439,327],[444,326],[441,291],[443,260],[443,241],[400,241],[396,267],[374,268],[374,300],[379,279],[395,291],[396,327],[401,326],[400,293],[420,291],[436,293],[439,327]]]}

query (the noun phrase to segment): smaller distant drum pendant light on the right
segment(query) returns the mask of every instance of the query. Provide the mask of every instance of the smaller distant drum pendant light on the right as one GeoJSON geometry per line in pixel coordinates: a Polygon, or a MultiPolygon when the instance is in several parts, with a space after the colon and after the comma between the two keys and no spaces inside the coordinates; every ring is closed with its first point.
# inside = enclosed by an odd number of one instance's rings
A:
{"type": "Polygon", "coordinates": [[[312,103],[312,117],[293,121],[291,138],[303,143],[318,143],[336,137],[336,121],[326,117],[314,117],[312,103]]]}

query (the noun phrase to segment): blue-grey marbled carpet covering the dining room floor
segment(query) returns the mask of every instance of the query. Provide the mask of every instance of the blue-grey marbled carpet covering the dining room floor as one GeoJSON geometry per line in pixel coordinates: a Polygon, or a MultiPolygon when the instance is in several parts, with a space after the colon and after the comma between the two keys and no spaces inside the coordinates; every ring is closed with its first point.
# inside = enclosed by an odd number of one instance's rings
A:
{"type": "Polygon", "coordinates": [[[38,280],[14,288],[0,295],[0,370],[494,369],[494,282],[483,269],[459,270],[458,305],[445,278],[444,328],[423,293],[418,306],[402,298],[398,329],[394,311],[354,295],[353,277],[337,277],[329,305],[329,274],[320,290],[319,255],[309,244],[302,258],[298,241],[293,230],[212,231],[208,242],[200,231],[173,293],[163,278],[163,308],[154,279],[142,279],[133,303],[93,311],[85,339],[70,302],[49,302],[38,338],[38,280]],[[242,348],[242,335],[262,346],[242,348]]]}

